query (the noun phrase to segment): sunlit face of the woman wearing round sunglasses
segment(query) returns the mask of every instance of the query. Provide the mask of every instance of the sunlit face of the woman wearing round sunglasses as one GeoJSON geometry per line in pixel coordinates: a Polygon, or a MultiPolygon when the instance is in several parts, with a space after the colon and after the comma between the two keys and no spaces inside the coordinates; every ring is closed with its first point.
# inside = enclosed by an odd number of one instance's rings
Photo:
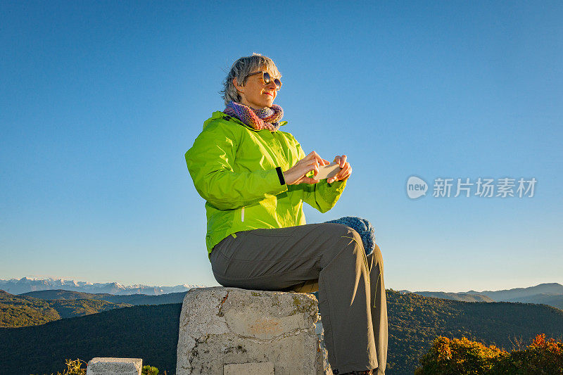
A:
{"type": "MultiPolygon", "coordinates": [[[[241,94],[241,104],[252,107],[254,109],[261,109],[271,107],[274,99],[277,96],[276,84],[274,84],[274,75],[266,68],[255,70],[253,72],[268,72],[272,80],[269,84],[265,84],[262,79],[262,74],[251,75],[246,79],[244,86],[239,86],[234,78],[233,83],[236,89],[241,94]]],[[[251,72],[251,74],[253,73],[251,72]]]]}

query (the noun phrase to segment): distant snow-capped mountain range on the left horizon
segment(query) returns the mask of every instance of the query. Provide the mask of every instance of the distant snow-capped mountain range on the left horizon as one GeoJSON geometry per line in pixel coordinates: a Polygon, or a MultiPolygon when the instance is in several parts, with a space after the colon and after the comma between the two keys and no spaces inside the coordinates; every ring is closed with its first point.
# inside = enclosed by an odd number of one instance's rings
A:
{"type": "Polygon", "coordinates": [[[148,286],[113,283],[90,283],[88,281],[63,280],[63,279],[34,279],[23,277],[21,279],[0,279],[0,289],[11,294],[22,294],[31,291],[49,291],[64,289],[84,293],[107,293],[115,295],[146,294],[161,295],[167,293],[186,292],[191,288],[201,288],[202,285],[177,285],[177,286],[148,286]]]}

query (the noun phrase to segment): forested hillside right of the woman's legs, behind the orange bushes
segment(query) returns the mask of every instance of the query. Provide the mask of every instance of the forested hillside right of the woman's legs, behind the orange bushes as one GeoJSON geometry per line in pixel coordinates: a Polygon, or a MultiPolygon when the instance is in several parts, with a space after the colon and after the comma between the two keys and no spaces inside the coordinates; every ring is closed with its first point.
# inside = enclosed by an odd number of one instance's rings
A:
{"type": "Polygon", "coordinates": [[[506,350],[514,338],[530,341],[538,333],[563,339],[563,311],[548,305],[459,302],[393,290],[387,303],[390,374],[412,374],[437,336],[464,336],[506,350]]]}

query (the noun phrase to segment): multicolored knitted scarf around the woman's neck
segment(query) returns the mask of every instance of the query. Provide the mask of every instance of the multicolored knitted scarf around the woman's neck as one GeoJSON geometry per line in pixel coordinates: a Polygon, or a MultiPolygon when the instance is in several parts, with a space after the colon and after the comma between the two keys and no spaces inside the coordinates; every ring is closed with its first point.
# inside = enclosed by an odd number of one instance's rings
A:
{"type": "Polygon", "coordinates": [[[233,116],[255,130],[270,129],[276,132],[279,129],[279,120],[284,117],[284,110],[277,104],[272,107],[254,109],[241,103],[229,101],[223,110],[226,115],[233,116]]]}

